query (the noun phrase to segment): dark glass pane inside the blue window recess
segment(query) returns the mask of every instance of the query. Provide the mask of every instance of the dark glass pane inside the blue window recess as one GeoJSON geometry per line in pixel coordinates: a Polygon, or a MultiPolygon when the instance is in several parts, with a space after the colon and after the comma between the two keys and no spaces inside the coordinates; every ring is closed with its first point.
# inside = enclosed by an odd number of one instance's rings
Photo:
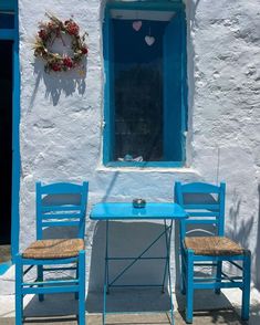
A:
{"type": "Polygon", "coordinates": [[[163,33],[166,22],[112,21],[114,41],[115,148],[113,160],[129,156],[163,160],[163,33]],[[154,36],[147,45],[145,36],[154,36]]]}

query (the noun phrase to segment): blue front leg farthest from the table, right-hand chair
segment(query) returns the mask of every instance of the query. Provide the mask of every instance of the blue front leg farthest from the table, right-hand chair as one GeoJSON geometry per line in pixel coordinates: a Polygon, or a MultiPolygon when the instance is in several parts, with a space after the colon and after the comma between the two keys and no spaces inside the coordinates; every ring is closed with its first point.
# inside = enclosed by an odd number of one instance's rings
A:
{"type": "Polygon", "coordinates": [[[251,252],[245,252],[243,259],[243,289],[242,289],[242,312],[241,318],[249,319],[250,312],[250,274],[251,274],[251,252]]]}

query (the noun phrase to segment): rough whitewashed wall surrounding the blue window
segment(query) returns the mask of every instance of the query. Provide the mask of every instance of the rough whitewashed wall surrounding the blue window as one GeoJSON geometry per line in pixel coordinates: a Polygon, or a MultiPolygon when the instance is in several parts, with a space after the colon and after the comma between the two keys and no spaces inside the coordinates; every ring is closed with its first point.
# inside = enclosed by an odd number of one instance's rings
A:
{"type": "MultiPolygon", "coordinates": [[[[100,200],[134,197],[171,200],[176,180],[223,180],[227,234],[252,250],[252,281],[260,283],[256,259],[260,249],[260,0],[186,2],[187,167],[110,169],[102,166],[102,1],[45,0],[33,6],[30,0],[19,1],[21,249],[35,237],[38,180],[89,180],[90,207],[100,200]],[[44,74],[42,64],[34,61],[33,36],[45,12],[64,20],[73,15],[89,32],[85,78],[77,73],[44,74]]],[[[89,254],[94,229],[95,223],[87,221],[89,254]]]]}

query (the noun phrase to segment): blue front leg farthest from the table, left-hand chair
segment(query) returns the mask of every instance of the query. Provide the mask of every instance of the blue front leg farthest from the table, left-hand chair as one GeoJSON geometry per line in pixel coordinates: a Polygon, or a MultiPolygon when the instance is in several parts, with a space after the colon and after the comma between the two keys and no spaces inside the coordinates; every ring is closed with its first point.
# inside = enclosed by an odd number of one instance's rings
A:
{"type": "Polygon", "coordinates": [[[15,256],[15,325],[21,325],[23,319],[23,266],[22,256],[18,254],[15,256]]]}

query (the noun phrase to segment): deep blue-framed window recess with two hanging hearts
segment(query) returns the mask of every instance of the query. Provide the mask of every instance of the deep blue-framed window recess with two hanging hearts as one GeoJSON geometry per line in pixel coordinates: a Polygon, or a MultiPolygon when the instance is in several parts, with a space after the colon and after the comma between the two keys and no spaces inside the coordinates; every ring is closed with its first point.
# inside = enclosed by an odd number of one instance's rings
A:
{"type": "Polygon", "coordinates": [[[104,164],[184,166],[187,59],[183,2],[108,2],[103,40],[104,164]]]}

